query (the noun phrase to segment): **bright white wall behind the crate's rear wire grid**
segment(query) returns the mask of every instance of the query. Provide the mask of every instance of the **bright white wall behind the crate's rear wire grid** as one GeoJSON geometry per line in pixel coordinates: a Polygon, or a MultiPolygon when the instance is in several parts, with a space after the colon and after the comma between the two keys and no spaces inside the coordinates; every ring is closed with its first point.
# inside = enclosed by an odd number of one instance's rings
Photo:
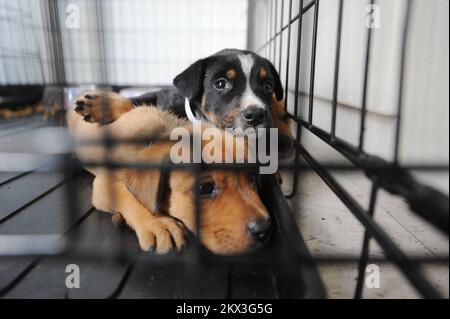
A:
{"type": "MultiPolygon", "coordinates": [[[[42,83],[42,72],[45,83],[54,82],[46,3],[0,0],[0,48],[25,50],[37,57],[31,62],[0,55],[0,84],[42,83]],[[13,24],[11,17],[19,23],[13,24]],[[28,74],[25,69],[30,70],[28,74]]],[[[58,9],[69,83],[170,84],[178,72],[201,57],[225,47],[246,48],[246,0],[61,0],[58,9]],[[66,27],[68,4],[78,6],[80,28],[66,27]]]]}

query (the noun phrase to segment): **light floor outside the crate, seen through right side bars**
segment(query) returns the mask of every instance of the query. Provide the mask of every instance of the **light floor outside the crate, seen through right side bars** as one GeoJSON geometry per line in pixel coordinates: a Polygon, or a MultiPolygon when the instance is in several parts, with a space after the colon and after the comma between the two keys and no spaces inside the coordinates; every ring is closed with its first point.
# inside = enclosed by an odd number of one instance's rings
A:
{"type": "MultiPolygon", "coordinates": [[[[363,174],[341,172],[334,176],[363,207],[367,208],[370,183],[363,174]]],[[[448,185],[448,175],[441,179],[446,179],[448,185]]],[[[285,181],[283,187],[288,189],[291,185],[290,176],[285,176],[285,181]]],[[[298,226],[313,255],[359,257],[364,235],[363,227],[313,171],[301,175],[298,193],[290,203],[292,210],[296,212],[298,226]]],[[[431,257],[435,260],[433,264],[423,267],[424,273],[448,298],[449,265],[447,261],[439,258],[448,256],[448,237],[411,213],[407,203],[401,198],[384,191],[378,198],[375,219],[405,253],[410,256],[431,257]]],[[[371,240],[370,256],[383,256],[374,240],[371,240]]],[[[378,266],[380,288],[365,287],[363,297],[420,297],[396,266],[388,263],[378,266]]],[[[319,270],[330,298],[353,297],[358,273],[357,262],[320,264],[319,270]]]]}

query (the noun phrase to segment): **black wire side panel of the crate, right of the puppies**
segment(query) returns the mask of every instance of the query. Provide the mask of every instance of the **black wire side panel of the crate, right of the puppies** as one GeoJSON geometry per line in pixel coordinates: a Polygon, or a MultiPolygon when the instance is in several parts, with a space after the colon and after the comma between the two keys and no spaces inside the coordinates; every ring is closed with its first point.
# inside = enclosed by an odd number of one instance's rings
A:
{"type": "MultiPolygon", "coordinates": [[[[314,77],[315,77],[315,57],[316,57],[316,43],[317,43],[317,28],[319,21],[319,8],[320,0],[304,1],[299,0],[299,12],[293,15],[292,3],[293,0],[280,0],[281,1],[281,21],[283,21],[284,5],[289,6],[289,17],[287,24],[282,25],[277,29],[277,9],[278,6],[274,1],[268,0],[268,11],[270,15],[270,36],[267,41],[260,46],[256,52],[260,53],[264,49],[269,50],[269,60],[281,69],[282,65],[282,32],[288,30],[288,43],[287,43],[287,61],[286,63],[286,78],[285,88],[289,83],[289,69],[291,67],[291,61],[289,61],[290,42],[291,42],[291,28],[292,24],[298,21],[298,39],[297,39],[297,55],[295,61],[295,84],[294,84],[294,102],[293,112],[288,111],[288,116],[294,121],[296,126],[296,152],[295,152],[295,164],[299,165],[300,157],[302,157],[310,167],[320,176],[320,178],[328,185],[328,187],[338,196],[338,198],[347,206],[349,211],[357,218],[357,220],[365,228],[364,239],[361,248],[361,257],[359,259],[359,271],[358,279],[355,287],[354,298],[361,298],[363,293],[363,283],[365,278],[365,269],[369,261],[369,241],[371,238],[375,239],[377,243],[384,250],[386,257],[391,260],[401,272],[408,278],[417,291],[427,298],[439,298],[440,294],[432,287],[431,283],[425,278],[419,269],[420,261],[416,258],[408,258],[407,255],[396,245],[389,235],[383,231],[383,229],[374,221],[374,211],[377,202],[377,194],[380,189],[384,189],[391,194],[398,195],[406,199],[410,205],[411,211],[424,218],[427,222],[431,223],[434,227],[441,230],[448,235],[449,232],[449,210],[448,210],[448,196],[440,193],[439,191],[423,185],[416,181],[411,175],[411,170],[423,170],[423,171],[448,171],[448,164],[442,165],[401,165],[398,160],[399,145],[400,145],[400,129],[402,124],[402,108],[403,108],[403,85],[404,85],[404,68],[406,60],[406,45],[407,36],[409,30],[410,16],[412,10],[412,2],[410,0],[406,4],[406,10],[402,21],[402,35],[401,35],[401,56],[400,56],[400,73],[398,84],[398,100],[397,100],[397,115],[396,115],[396,129],[395,129],[395,150],[394,160],[388,162],[378,156],[368,154],[364,151],[364,130],[366,125],[367,114],[367,92],[368,92],[368,78],[369,78],[369,65],[371,63],[371,42],[372,42],[372,29],[367,28],[366,44],[365,44],[365,67],[364,67],[364,83],[363,83],[363,98],[361,101],[361,115],[359,123],[359,144],[352,145],[343,139],[336,136],[336,114],[338,104],[338,86],[339,86],[339,61],[341,54],[341,35],[342,35],[342,16],[345,6],[345,0],[339,0],[338,4],[338,22],[336,33],[336,51],[334,60],[334,74],[333,76],[333,99],[332,99],[332,114],[331,114],[331,131],[327,132],[313,124],[313,110],[314,110],[314,77]],[[301,35],[303,27],[303,16],[310,10],[314,11],[313,20],[313,34],[312,34],[312,51],[311,51],[311,73],[310,73],[310,88],[308,92],[309,104],[308,104],[308,118],[302,118],[299,116],[299,74],[301,72],[299,63],[301,56],[301,35]],[[275,16],[275,18],[273,18],[275,16]],[[271,25],[271,22],[273,25],[271,25]],[[280,45],[277,48],[277,38],[280,37],[280,45]],[[276,50],[279,50],[279,61],[274,61],[276,56],[276,50]],[[330,165],[320,164],[302,145],[301,143],[301,131],[305,129],[318,137],[323,143],[329,145],[334,150],[342,154],[347,158],[357,170],[363,171],[366,176],[372,181],[372,189],[370,195],[369,208],[364,209],[357,200],[349,194],[345,188],[332,176],[330,173],[330,165]]],[[[368,5],[376,4],[375,0],[367,1],[368,5]]],[[[253,25],[257,20],[254,16],[256,1],[251,0],[249,5],[250,24],[253,25]],[[253,14],[252,14],[253,13],[253,14]]],[[[250,29],[250,32],[255,30],[250,29]]],[[[286,96],[287,100],[287,96],[286,96]]],[[[286,101],[287,103],[290,101],[286,101]]],[[[292,103],[292,102],[291,102],[292,103]]],[[[286,108],[288,110],[288,108],[286,108]]],[[[294,178],[292,190],[286,195],[287,198],[293,197],[297,193],[297,185],[299,181],[299,170],[294,170],[294,178]]],[[[447,256],[448,258],[448,256],[447,256]]]]}

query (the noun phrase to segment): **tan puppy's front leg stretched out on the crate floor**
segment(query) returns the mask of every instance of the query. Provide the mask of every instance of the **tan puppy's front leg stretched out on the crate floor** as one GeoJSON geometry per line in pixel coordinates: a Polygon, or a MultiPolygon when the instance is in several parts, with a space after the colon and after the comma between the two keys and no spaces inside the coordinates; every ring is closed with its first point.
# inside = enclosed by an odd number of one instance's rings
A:
{"type": "Polygon", "coordinates": [[[92,204],[99,210],[120,213],[136,232],[142,250],[165,254],[185,245],[183,226],[178,221],[149,211],[121,180],[107,173],[94,180],[92,204]]]}

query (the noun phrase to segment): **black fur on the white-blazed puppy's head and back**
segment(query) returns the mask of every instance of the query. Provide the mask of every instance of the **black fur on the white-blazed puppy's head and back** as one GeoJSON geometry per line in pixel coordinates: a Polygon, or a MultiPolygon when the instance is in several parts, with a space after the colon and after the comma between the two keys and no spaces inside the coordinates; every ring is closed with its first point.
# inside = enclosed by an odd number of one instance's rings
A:
{"type": "MultiPolygon", "coordinates": [[[[267,59],[251,52],[237,49],[225,49],[205,59],[198,60],[182,73],[177,75],[173,81],[174,88],[163,89],[153,93],[147,93],[132,99],[136,105],[153,104],[165,110],[174,112],[180,117],[186,117],[184,111],[184,98],[188,98],[193,111],[201,114],[207,120],[219,127],[241,127],[246,128],[240,115],[241,97],[246,89],[247,79],[241,67],[239,55],[250,54],[254,60],[251,70],[250,87],[253,93],[262,101],[267,111],[272,105],[272,94],[277,100],[283,98],[283,88],[280,77],[275,67],[267,59]],[[259,77],[259,69],[263,67],[267,71],[264,79],[259,77]],[[215,82],[220,78],[226,78],[226,72],[230,69],[236,71],[234,79],[227,79],[230,89],[218,90],[215,82]],[[273,91],[264,90],[264,82],[273,84],[273,91]],[[204,107],[201,106],[202,99],[204,107]],[[208,114],[213,114],[211,119],[208,114]]],[[[261,126],[270,126],[270,112],[267,112],[267,121],[261,126]]]]}

